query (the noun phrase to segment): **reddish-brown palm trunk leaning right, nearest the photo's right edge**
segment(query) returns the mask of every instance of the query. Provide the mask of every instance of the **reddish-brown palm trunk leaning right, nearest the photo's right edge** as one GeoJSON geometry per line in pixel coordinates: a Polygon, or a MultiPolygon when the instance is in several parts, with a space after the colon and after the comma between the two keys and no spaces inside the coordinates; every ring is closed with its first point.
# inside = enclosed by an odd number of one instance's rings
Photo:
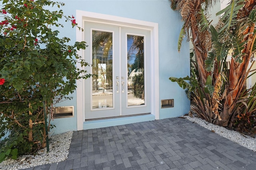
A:
{"type": "MultiPolygon", "coordinates": [[[[248,17],[249,12],[253,8],[252,4],[255,4],[254,0],[248,0],[244,8],[242,8],[242,10],[239,11],[237,18],[248,17]]],[[[243,89],[246,88],[245,85],[247,77],[247,68],[252,53],[252,45],[256,37],[256,34],[253,34],[253,32],[254,26],[249,27],[244,32],[244,35],[248,33],[251,34],[248,34],[248,36],[244,39],[244,41],[248,43],[245,45],[244,50],[242,51],[242,53],[244,53],[244,55],[242,56],[242,63],[235,62],[234,58],[232,57],[230,63],[230,76],[228,81],[228,93],[226,95],[226,100],[224,102],[222,113],[220,114],[222,120],[218,121],[218,125],[231,128],[233,123],[232,120],[230,119],[234,119],[234,117],[236,117],[238,114],[234,113],[234,107],[243,89]]]]}

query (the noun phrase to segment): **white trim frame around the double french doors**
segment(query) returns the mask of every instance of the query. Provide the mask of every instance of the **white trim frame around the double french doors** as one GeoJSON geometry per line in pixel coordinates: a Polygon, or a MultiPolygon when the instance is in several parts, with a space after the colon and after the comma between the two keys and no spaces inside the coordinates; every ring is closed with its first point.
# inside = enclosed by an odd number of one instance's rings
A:
{"type": "MultiPolygon", "coordinates": [[[[118,16],[110,16],[106,14],[99,14],[94,12],[86,12],[76,10],[76,23],[78,26],[84,28],[84,22],[94,22],[101,24],[108,24],[113,26],[123,26],[126,28],[138,28],[150,31],[150,75],[151,77],[151,114],[155,115],[155,119],[159,119],[159,55],[158,55],[158,23],[147,22],[142,20],[134,20],[131,18],[123,18],[118,16]]],[[[76,28],[76,41],[84,41],[84,32],[76,28]]],[[[78,51],[78,55],[84,58],[82,50],[78,51]]],[[[81,66],[77,65],[78,68],[81,66]]],[[[84,68],[87,69],[87,68],[84,68]]],[[[84,79],[76,81],[76,113],[77,113],[77,130],[83,130],[83,123],[85,120],[84,108],[84,79]]]]}

